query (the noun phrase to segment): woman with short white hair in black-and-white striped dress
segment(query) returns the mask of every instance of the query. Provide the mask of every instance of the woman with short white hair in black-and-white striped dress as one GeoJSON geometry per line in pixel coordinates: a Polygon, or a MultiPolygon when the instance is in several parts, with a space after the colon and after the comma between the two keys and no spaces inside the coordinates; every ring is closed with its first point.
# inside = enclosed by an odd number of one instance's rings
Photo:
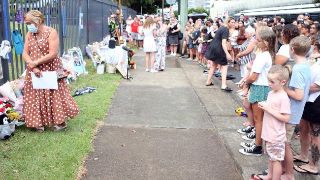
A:
{"type": "Polygon", "coordinates": [[[245,37],[247,40],[242,44],[240,48],[240,53],[237,55],[237,59],[240,60],[240,72],[241,77],[244,77],[247,73],[247,63],[250,60],[255,59],[255,38],[253,38],[255,34],[255,29],[253,28],[247,28],[245,31],[245,37]]]}

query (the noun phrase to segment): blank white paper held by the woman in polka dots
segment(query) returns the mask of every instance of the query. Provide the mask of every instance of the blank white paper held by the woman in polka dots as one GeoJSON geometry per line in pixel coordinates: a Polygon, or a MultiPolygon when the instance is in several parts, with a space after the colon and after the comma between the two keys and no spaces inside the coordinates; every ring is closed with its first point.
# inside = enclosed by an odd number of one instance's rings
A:
{"type": "Polygon", "coordinates": [[[58,90],[58,80],[56,71],[42,71],[42,77],[38,78],[31,72],[33,89],[58,90]]]}

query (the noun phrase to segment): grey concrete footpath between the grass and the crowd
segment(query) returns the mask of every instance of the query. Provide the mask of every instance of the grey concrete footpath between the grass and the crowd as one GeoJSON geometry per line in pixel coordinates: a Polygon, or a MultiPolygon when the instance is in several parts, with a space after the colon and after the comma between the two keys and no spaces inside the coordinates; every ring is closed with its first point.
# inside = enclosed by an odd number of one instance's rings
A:
{"type": "Polygon", "coordinates": [[[240,97],[204,86],[203,68],[186,59],[167,56],[164,71],[144,72],[144,56],[134,56],[133,79],[121,82],[96,134],[86,180],[249,180],[267,167],[265,155],[238,152],[245,140],[236,129],[246,120],[234,112],[240,97]]]}

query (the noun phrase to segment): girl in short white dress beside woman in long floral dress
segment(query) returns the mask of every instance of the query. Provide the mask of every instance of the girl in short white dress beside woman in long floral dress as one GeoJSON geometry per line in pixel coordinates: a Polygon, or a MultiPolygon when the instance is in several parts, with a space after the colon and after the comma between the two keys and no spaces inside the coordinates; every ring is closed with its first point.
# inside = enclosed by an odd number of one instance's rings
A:
{"type": "Polygon", "coordinates": [[[144,23],[142,30],[139,31],[140,35],[144,35],[143,51],[146,52],[146,72],[158,72],[154,69],[155,53],[157,51],[155,38],[157,36],[157,28],[155,21],[152,17],[148,17],[144,23]],[[151,69],[149,68],[149,57],[151,56],[151,69]]]}

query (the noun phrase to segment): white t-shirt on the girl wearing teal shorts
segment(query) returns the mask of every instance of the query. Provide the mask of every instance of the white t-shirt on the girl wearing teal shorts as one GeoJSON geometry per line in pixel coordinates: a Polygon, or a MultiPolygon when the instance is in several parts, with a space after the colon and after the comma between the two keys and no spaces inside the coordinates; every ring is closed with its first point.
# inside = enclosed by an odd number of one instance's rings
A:
{"type": "Polygon", "coordinates": [[[255,72],[259,73],[258,78],[252,84],[257,86],[269,86],[268,72],[272,66],[272,58],[268,51],[256,55],[252,65],[250,76],[255,72]]]}

